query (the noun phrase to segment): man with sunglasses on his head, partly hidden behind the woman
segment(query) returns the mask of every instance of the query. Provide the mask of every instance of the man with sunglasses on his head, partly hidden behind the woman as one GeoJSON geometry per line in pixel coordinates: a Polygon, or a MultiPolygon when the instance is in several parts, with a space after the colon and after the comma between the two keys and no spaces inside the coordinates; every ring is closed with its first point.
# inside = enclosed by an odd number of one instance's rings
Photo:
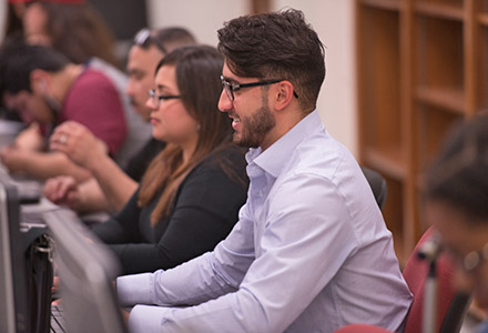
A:
{"type": "MultiPolygon", "coordinates": [[[[151,109],[145,103],[148,91],[154,88],[154,70],[160,60],[172,50],[196,43],[184,28],[170,27],[159,30],[141,30],[129,51],[125,89],[134,110],[149,122],[151,109]]],[[[139,182],[152,161],[164,148],[164,142],[151,138],[122,170],[109,155],[102,142],[87,127],[65,122],[54,130],[51,149],[64,152],[77,164],[93,174],[90,180],[78,183],[72,176],[57,176],[48,180],[44,195],[58,204],[67,204],[82,212],[111,210],[119,211],[132,196],[139,182]],[[70,140],[61,143],[60,138],[70,140]]]]}

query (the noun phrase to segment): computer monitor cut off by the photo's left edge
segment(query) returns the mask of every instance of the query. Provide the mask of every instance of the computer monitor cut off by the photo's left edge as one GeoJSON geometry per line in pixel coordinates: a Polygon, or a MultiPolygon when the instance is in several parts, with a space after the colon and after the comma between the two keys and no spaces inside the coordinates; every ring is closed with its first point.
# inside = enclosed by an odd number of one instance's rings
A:
{"type": "Polygon", "coordinates": [[[0,180],[0,332],[31,332],[17,189],[0,180]]]}

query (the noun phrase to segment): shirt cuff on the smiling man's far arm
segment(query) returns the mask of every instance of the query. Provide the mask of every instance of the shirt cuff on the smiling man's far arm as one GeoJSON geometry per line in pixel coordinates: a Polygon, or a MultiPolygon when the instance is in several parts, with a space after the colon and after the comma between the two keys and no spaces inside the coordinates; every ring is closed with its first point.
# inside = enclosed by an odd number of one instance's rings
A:
{"type": "Polygon", "coordinates": [[[152,273],[119,276],[116,293],[122,306],[154,304],[154,276],[152,273]]]}

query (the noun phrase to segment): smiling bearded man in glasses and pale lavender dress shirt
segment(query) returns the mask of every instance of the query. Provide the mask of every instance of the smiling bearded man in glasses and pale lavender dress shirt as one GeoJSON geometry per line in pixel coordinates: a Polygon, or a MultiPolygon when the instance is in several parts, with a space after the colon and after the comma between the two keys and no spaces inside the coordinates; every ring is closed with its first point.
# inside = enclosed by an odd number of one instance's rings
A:
{"type": "Polygon", "coordinates": [[[297,10],[218,30],[218,109],[232,119],[251,184],[213,252],[172,270],[120,276],[131,332],[334,332],[369,323],[403,332],[411,294],[392,233],[316,99],[324,47],[297,10]]]}

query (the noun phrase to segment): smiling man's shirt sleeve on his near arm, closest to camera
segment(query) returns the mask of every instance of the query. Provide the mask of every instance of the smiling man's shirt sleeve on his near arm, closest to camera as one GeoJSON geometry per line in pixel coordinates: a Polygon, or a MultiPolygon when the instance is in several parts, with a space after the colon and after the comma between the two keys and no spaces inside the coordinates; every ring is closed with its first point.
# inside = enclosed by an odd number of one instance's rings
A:
{"type": "MultiPolygon", "coordinates": [[[[148,290],[131,300],[141,304],[130,315],[132,332],[286,330],[334,279],[356,241],[343,198],[327,180],[295,175],[271,196],[266,221],[258,223],[263,230],[245,220],[246,204],[244,220],[214,253],[149,275],[148,290]],[[260,242],[260,253],[253,242],[260,242]],[[230,285],[237,289],[225,293],[230,285]],[[211,297],[218,287],[222,296],[211,297]],[[204,289],[211,301],[175,307],[204,300],[192,299],[204,289]]],[[[124,285],[139,284],[139,278],[123,279],[119,294],[125,299],[124,285]]]]}

